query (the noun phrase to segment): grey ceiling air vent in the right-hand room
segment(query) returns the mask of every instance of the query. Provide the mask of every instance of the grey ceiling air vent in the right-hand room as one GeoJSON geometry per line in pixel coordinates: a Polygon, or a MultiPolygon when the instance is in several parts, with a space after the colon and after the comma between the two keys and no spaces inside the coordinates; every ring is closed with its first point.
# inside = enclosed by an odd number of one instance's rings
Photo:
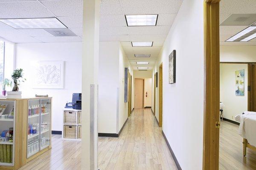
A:
{"type": "Polygon", "coordinates": [[[256,22],[256,14],[231,14],[220,26],[250,26],[256,22]]]}

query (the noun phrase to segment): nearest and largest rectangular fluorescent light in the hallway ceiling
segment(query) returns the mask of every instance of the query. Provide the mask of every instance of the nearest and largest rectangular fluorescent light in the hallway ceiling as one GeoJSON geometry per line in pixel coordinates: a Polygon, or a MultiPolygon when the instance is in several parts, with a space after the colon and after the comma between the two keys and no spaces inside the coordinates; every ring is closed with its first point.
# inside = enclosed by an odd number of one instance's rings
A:
{"type": "Polygon", "coordinates": [[[127,26],[156,26],[158,14],[125,15],[127,26]]]}

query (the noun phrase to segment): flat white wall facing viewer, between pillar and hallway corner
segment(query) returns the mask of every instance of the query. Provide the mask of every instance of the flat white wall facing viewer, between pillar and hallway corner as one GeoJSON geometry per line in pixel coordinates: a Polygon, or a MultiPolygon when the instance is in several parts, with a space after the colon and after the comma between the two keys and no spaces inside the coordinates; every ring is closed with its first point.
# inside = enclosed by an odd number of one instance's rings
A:
{"type": "Polygon", "coordinates": [[[98,132],[116,133],[119,42],[99,43],[98,132]]]}

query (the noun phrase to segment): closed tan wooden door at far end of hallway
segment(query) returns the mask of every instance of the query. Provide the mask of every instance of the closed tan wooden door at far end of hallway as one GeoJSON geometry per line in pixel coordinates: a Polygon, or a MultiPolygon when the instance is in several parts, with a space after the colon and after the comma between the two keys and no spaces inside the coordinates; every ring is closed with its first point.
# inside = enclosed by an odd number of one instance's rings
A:
{"type": "Polygon", "coordinates": [[[135,78],[134,109],[143,109],[143,79],[135,78]]]}

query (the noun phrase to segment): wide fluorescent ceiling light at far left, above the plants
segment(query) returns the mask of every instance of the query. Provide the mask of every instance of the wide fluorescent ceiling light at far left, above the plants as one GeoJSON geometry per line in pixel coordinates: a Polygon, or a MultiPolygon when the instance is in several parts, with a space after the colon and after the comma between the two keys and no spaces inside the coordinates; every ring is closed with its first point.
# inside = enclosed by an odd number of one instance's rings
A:
{"type": "Polygon", "coordinates": [[[48,29],[67,28],[57,18],[21,18],[21,19],[0,19],[2,23],[15,29],[48,29]]]}

